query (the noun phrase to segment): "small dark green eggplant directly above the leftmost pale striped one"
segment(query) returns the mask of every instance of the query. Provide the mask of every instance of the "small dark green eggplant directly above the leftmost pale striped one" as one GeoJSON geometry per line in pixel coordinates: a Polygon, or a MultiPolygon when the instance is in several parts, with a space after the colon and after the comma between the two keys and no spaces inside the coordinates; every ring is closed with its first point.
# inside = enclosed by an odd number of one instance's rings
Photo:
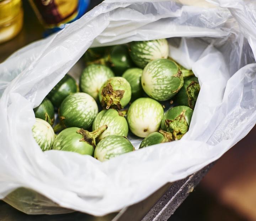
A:
{"type": "Polygon", "coordinates": [[[34,114],[36,118],[47,121],[51,126],[54,124],[54,107],[49,99],[44,98],[42,103],[38,107],[34,108],[34,114]]]}

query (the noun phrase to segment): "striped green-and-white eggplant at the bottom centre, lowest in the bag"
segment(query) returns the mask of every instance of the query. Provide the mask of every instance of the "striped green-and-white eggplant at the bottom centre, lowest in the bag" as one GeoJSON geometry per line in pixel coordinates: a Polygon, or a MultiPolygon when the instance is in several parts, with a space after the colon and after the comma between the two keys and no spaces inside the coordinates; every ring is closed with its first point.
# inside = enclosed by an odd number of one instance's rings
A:
{"type": "Polygon", "coordinates": [[[126,137],[110,135],[97,144],[94,157],[103,162],[130,151],[134,151],[134,147],[126,137]]]}

